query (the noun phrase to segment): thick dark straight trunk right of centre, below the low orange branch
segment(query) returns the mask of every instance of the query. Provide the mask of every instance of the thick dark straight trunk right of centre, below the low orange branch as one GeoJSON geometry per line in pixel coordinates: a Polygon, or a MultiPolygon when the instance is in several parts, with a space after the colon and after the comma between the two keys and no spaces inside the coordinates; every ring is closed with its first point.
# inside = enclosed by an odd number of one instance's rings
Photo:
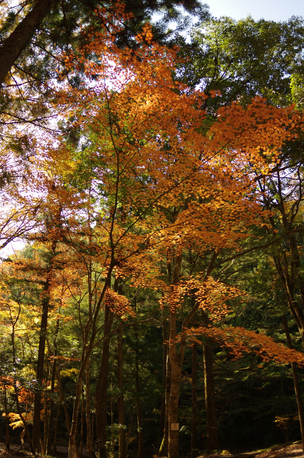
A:
{"type": "Polygon", "coordinates": [[[205,379],[205,405],[207,423],[207,453],[218,450],[218,428],[216,422],[215,390],[213,377],[213,360],[209,342],[203,343],[204,354],[204,379],[205,379]]]}

